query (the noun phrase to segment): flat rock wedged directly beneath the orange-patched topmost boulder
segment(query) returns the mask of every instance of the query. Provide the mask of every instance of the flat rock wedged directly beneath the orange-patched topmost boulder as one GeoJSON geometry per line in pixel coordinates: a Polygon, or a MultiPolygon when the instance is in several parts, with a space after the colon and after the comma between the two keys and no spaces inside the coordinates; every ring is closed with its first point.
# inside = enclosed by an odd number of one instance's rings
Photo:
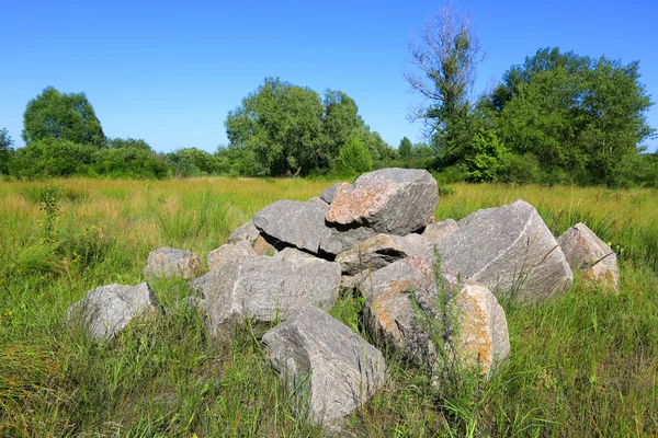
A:
{"type": "Polygon", "coordinates": [[[362,270],[377,270],[409,255],[431,255],[429,247],[413,244],[408,237],[377,234],[354,245],[336,257],[343,275],[355,275],[362,270]]]}

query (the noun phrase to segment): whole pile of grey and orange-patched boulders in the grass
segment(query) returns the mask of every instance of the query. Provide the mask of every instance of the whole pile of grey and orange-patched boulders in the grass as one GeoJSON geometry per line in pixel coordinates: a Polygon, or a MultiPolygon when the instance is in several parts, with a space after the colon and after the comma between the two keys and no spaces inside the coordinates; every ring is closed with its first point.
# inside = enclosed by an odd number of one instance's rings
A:
{"type": "MultiPolygon", "coordinates": [[[[208,254],[208,273],[190,284],[200,298],[190,302],[215,337],[230,336],[247,318],[283,321],[263,336],[272,366],[299,415],[334,423],[384,384],[377,347],[433,370],[447,354],[436,335],[455,333],[450,354],[486,377],[510,355],[497,298],[561,293],[571,269],[617,285],[614,253],[585,224],[556,240],[523,200],[460,222],[434,219],[438,201],[430,173],[404,169],[334,184],[309,201],[277,200],[208,254]],[[326,313],[341,288],[365,298],[363,328],[375,346],[326,313]]],[[[197,261],[158,249],[144,272],[191,278],[197,261]]],[[[72,304],[69,315],[81,313],[90,335],[107,341],[156,308],[148,285],[111,285],[72,304]]]]}

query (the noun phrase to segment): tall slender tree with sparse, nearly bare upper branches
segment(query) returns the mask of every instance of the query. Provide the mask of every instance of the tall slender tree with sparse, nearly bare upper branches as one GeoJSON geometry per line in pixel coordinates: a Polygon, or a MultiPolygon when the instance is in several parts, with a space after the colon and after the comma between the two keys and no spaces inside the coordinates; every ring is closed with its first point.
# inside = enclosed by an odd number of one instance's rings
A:
{"type": "Polygon", "coordinates": [[[426,101],[410,118],[424,120],[434,147],[446,161],[455,161],[469,141],[468,96],[481,60],[479,38],[468,15],[446,3],[424,24],[420,38],[410,42],[409,51],[409,62],[420,74],[404,76],[426,101]]]}

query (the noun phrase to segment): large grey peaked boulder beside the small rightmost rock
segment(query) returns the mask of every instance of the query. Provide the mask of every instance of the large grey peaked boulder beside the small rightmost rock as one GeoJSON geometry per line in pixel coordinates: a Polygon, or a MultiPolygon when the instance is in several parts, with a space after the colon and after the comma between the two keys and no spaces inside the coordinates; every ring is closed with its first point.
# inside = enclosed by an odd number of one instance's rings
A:
{"type": "Polygon", "coordinates": [[[530,204],[478,210],[460,224],[436,242],[447,270],[519,299],[542,299],[571,286],[563,251],[530,204]]]}

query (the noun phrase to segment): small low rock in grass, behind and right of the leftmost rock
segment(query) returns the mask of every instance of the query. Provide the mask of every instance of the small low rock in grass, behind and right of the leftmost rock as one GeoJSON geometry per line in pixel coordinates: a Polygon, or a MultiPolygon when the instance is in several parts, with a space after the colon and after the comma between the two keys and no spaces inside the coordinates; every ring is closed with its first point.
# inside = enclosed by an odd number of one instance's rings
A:
{"type": "Polygon", "coordinates": [[[201,258],[190,251],[159,247],[148,255],[144,275],[146,278],[194,278],[202,270],[201,258]]]}

